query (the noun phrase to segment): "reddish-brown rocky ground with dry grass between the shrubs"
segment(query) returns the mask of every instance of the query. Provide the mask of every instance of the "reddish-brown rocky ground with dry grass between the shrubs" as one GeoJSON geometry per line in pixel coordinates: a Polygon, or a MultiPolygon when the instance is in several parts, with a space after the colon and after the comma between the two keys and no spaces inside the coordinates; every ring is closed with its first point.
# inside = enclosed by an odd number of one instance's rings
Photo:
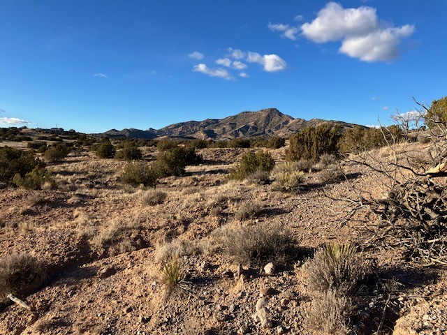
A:
{"type": "MultiPolygon", "coordinates": [[[[414,145],[423,161],[424,148],[414,145]]],[[[347,209],[332,198],[355,190],[379,197],[383,180],[365,166],[342,163],[346,179],[330,180],[323,169],[306,174],[293,192],[228,181],[245,151],[200,150],[205,162],[184,177],[162,179],[156,188],[167,197],[154,206],[142,201],[147,190],[119,182],[124,162],[85,152],[50,165],[55,190],[0,190],[0,256],[36,255],[48,278],[20,297],[31,311],[3,302],[0,334],[320,334],[307,318],[312,298],[302,265],[329,241],[365,246],[374,218],[360,213],[340,221],[347,209]],[[237,213],[247,204],[259,210],[240,222],[237,213]],[[288,259],[271,269],[239,265],[225,253],[219,231],[263,223],[288,228],[297,246],[288,259]],[[162,263],[173,248],[182,255],[186,289],[166,298],[162,263]]],[[[284,148],[271,152],[283,163],[284,148]]],[[[371,156],[386,161],[390,152],[371,156]]],[[[154,152],[147,149],[145,157],[154,152]]],[[[447,333],[443,268],[406,262],[399,249],[362,252],[374,265],[377,289],[358,297],[353,334],[447,333]],[[379,282],[393,289],[379,289],[379,282]]]]}

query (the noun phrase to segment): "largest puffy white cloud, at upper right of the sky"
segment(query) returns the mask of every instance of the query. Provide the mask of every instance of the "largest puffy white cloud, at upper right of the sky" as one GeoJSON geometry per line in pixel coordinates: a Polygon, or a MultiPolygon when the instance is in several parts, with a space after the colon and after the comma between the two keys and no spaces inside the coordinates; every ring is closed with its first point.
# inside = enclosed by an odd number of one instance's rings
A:
{"type": "Polygon", "coordinates": [[[406,24],[392,27],[381,22],[376,8],[343,8],[330,2],[312,22],[301,26],[302,35],[315,43],[342,41],[339,51],[362,61],[392,61],[399,57],[402,38],[413,34],[415,27],[406,24]]]}

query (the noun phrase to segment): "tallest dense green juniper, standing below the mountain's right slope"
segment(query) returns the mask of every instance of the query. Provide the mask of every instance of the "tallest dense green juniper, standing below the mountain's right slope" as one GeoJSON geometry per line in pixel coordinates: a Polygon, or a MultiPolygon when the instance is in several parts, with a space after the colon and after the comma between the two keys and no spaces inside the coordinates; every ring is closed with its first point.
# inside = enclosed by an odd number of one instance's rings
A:
{"type": "Polygon", "coordinates": [[[305,128],[300,133],[292,135],[289,148],[286,150],[288,161],[310,159],[316,161],[323,154],[336,154],[341,126],[321,124],[316,128],[305,128]]]}

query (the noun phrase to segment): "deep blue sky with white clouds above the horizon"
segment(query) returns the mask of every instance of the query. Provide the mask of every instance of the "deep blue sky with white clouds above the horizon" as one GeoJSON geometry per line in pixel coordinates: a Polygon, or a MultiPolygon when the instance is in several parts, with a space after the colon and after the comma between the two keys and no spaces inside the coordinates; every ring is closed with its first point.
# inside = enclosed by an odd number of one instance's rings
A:
{"type": "Polygon", "coordinates": [[[0,126],[161,128],[277,107],[390,124],[447,95],[447,1],[0,0],[0,126]]]}

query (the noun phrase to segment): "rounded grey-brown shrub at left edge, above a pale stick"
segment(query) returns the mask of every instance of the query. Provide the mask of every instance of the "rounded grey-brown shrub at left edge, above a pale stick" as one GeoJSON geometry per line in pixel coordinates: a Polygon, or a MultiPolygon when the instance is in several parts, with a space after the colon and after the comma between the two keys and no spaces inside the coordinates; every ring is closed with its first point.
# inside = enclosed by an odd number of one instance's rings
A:
{"type": "Polygon", "coordinates": [[[43,263],[26,253],[14,253],[0,260],[0,296],[28,295],[45,281],[43,263]]]}

